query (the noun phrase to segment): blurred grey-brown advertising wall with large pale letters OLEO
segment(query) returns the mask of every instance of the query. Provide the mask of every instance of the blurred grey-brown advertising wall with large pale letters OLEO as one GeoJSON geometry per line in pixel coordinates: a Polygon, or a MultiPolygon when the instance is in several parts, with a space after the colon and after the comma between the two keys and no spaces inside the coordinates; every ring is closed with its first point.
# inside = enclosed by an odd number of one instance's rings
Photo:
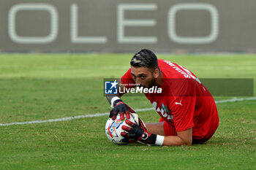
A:
{"type": "Polygon", "coordinates": [[[255,0],[1,0],[2,52],[256,52],[255,0]]]}

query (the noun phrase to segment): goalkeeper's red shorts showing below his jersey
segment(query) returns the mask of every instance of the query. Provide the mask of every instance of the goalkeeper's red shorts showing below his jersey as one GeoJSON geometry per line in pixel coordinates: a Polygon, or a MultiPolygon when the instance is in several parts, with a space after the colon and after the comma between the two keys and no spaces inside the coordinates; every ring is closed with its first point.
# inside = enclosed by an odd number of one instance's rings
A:
{"type": "MultiPolygon", "coordinates": [[[[164,122],[165,136],[177,136],[173,123],[167,123],[162,117],[160,118],[159,122],[164,122]]],[[[192,144],[203,144],[204,142],[208,141],[212,135],[214,135],[214,133],[201,139],[197,139],[197,136],[192,136],[192,144]]]]}

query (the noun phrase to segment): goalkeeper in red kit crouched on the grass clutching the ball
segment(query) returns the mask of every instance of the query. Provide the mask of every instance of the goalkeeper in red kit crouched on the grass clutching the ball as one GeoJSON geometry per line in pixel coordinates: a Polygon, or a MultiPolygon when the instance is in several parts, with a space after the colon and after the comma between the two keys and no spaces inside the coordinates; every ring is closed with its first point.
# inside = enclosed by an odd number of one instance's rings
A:
{"type": "MultiPolygon", "coordinates": [[[[176,63],[157,59],[147,49],[140,50],[130,61],[131,67],[118,80],[118,89],[162,88],[161,93],[144,93],[160,115],[158,123],[139,125],[126,120],[131,127],[123,125],[124,142],[143,142],[165,146],[203,144],[208,141],[219,125],[214,98],[195,74],[176,63]]],[[[109,94],[107,99],[113,109],[110,117],[120,114],[129,118],[134,112],[121,100],[122,93],[109,94]]]]}

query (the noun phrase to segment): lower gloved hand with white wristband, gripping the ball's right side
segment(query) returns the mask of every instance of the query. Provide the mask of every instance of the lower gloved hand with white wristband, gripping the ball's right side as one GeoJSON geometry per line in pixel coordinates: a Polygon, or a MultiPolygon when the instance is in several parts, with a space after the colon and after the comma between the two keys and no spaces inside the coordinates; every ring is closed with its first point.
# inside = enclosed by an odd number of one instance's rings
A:
{"type": "Polygon", "coordinates": [[[122,126],[122,129],[124,129],[124,131],[128,131],[128,133],[121,132],[121,136],[124,136],[124,139],[122,139],[122,142],[135,143],[140,141],[146,144],[156,143],[157,135],[148,133],[143,121],[140,120],[140,118],[139,118],[139,125],[132,123],[129,120],[125,120],[125,123],[127,123],[131,127],[128,127],[127,125],[122,126]]]}

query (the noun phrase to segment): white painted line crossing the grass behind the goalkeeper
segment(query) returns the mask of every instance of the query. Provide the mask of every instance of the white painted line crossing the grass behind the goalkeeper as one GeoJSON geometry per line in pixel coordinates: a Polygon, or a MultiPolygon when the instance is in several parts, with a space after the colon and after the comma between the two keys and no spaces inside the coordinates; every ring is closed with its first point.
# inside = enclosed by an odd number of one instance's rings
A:
{"type": "MultiPolygon", "coordinates": [[[[230,102],[236,102],[236,101],[251,101],[256,100],[256,97],[250,97],[250,98],[231,98],[227,100],[222,101],[215,101],[216,104],[222,104],[222,103],[230,103],[230,102]]],[[[144,109],[135,109],[137,112],[145,112],[149,110],[154,110],[153,107],[150,108],[144,108],[144,109]]],[[[58,119],[49,119],[49,120],[34,120],[29,122],[15,122],[15,123],[0,123],[0,126],[7,126],[7,125],[25,125],[25,124],[34,124],[34,123],[51,123],[51,122],[62,122],[67,120],[74,120],[74,119],[81,119],[86,117],[100,117],[109,115],[109,112],[105,113],[96,113],[93,115],[80,115],[80,116],[73,116],[73,117],[63,117],[58,119]]]]}

